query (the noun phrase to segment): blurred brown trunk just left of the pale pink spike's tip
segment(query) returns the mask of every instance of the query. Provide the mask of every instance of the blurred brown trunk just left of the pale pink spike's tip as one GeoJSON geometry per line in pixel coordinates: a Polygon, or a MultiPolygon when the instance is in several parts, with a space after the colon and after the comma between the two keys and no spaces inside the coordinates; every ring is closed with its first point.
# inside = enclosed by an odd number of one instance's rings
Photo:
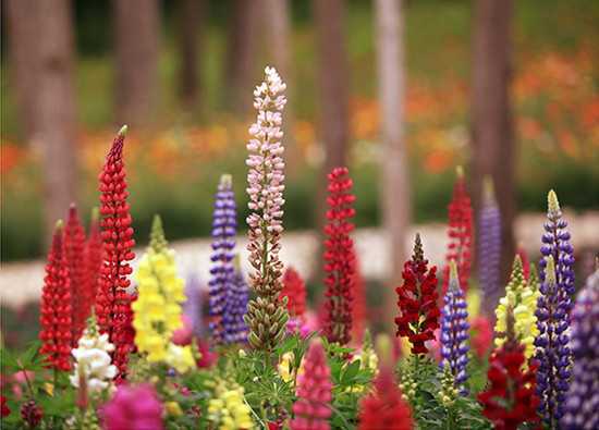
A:
{"type": "Polygon", "coordinates": [[[229,21],[225,58],[227,103],[237,113],[247,113],[253,106],[255,79],[256,23],[260,8],[254,1],[234,0],[229,21]]]}

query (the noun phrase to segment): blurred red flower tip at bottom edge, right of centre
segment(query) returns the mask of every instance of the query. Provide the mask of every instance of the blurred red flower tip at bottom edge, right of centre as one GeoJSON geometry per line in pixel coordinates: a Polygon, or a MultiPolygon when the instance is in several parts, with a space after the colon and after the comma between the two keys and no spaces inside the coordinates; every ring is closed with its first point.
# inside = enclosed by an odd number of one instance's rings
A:
{"type": "Polygon", "coordinates": [[[375,382],[376,391],[362,401],[359,430],[411,430],[409,407],[389,369],[382,369],[375,382]]]}

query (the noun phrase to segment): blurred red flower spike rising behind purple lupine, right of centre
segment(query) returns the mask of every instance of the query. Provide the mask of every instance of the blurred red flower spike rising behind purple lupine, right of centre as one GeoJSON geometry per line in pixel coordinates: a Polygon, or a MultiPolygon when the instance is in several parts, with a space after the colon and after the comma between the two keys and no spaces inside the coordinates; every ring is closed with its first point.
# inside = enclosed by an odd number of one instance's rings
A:
{"type": "Polygon", "coordinates": [[[464,170],[461,165],[456,169],[457,177],[453,186],[453,197],[448,207],[449,214],[449,244],[445,256],[445,269],[443,275],[443,293],[449,285],[449,263],[454,260],[460,274],[460,286],[468,290],[470,278],[470,265],[473,258],[473,209],[470,197],[466,191],[464,170]]]}

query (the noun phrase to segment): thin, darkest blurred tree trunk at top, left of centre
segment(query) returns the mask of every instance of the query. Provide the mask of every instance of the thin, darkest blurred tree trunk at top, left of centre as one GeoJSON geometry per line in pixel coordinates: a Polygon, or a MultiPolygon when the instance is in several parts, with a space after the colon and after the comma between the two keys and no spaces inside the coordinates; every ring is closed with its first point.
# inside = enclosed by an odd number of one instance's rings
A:
{"type": "Polygon", "coordinates": [[[190,110],[196,107],[201,87],[198,52],[201,51],[204,0],[179,0],[180,95],[190,110]]]}

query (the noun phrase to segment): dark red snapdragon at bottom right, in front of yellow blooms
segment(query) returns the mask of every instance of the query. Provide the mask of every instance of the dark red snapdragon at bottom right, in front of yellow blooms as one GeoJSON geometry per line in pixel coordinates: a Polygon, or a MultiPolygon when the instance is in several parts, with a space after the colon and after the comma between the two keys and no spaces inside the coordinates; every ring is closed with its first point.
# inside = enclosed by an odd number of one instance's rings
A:
{"type": "Polygon", "coordinates": [[[521,423],[537,423],[539,398],[535,393],[537,364],[525,368],[524,346],[515,339],[514,317],[508,308],[506,341],[489,358],[487,389],[478,394],[482,415],[494,429],[517,429],[521,423]]]}

